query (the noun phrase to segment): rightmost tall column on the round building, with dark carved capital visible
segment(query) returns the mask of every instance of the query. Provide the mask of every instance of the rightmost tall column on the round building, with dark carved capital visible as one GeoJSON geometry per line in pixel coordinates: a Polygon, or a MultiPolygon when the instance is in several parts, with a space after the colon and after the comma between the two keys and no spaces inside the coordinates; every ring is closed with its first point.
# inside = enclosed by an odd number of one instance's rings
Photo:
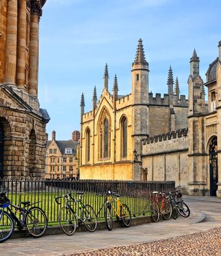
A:
{"type": "Polygon", "coordinates": [[[40,1],[31,3],[31,29],[29,46],[29,94],[38,96],[38,46],[39,46],[39,20],[42,15],[40,1]]]}

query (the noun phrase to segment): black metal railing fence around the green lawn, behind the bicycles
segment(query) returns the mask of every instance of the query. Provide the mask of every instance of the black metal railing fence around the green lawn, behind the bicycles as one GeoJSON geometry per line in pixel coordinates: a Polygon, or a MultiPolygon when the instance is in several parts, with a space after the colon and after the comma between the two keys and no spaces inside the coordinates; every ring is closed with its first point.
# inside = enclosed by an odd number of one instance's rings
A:
{"type": "MultiPolygon", "coordinates": [[[[149,212],[149,199],[151,192],[174,191],[175,182],[137,182],[137,181],[116,181],[116,180],[53,180],[53,179],[12,179],[0,180],[0,192],[6,191],[10,201],[19,205],[21,201],[31,201],[40,206],[47,215],[49,223],[57,223],[59,209],[64,205],[57,205],[55,197],[69,192],[77,198],[77,192],[84,192],[83,203],[92,205],[98,218],[104,218],[105,195],[118,191],[122,194],[121,201],[129,206],[133,216],[139,216],[149,212]]],[[[77,211],[77,205],[75,205],[77,211]]],[[[78,213],[78,211],[77,211],[78,213]]]]}

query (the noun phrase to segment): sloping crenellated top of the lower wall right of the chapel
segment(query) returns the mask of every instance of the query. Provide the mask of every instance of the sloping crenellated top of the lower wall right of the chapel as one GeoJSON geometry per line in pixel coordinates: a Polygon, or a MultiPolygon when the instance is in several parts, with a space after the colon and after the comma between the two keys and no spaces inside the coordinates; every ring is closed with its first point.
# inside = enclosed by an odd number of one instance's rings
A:
{"type": "Polygon", "coordinates": [[[177,137],[186,137],[187,134],[188,134],[188,128],[183,128],[173,132],[168,132],[166,134],[159,134],[159,135],[148,137],[146,139],[142,139],[142,143],[143,145],[150,144],[150,143],[157,143],[159,141],[166,141],[168,139],[175,139],[177,137]]]}

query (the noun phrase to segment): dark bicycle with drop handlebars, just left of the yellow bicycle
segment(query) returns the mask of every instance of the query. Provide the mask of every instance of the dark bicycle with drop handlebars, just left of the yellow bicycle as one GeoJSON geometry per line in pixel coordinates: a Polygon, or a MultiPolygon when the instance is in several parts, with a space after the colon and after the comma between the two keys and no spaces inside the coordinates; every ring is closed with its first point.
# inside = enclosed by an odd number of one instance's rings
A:
{"type": "Polygon", "coordinates": [[[55,202],[58,205],[61,205],[58,199],[66,199],[65,206],[59,210],[58,218],[60,228],[68,236],[71,236],[73,233],[75,233],[76,227],[78,225],[84,224],[86,229],[90,232],[94,232],[98,225],[98,220],[94,209],[90,205],[85,205],[81,199],[83,192],[77,192],[77,194],[79,195],[79,199],[73,198],[70,193],[62,195],[61,197],[55,197],[55,202]],[[78,216],[75,210],[73,210],[73,206],[70,205],[71,203],[79,203],[79,210],[81,212],[80,216],[78,216]]]}

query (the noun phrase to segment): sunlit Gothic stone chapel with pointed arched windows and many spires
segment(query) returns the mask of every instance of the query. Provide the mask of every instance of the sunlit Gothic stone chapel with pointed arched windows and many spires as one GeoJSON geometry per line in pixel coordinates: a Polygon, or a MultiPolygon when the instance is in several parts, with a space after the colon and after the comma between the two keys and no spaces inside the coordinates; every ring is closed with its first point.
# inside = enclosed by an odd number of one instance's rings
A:
{"type": "Polygon", "coordinates": [[[103,92],[98,100],[94,87],[92,111],[88,113],[82,94],[80,178],[146,180],[148,170],[142,166],[142,139],[187,128],[188,100],[179,94],[178,79],[173,91],[171,67],[168,94],[161,98],[161,94],[153,96],[149,92],[149,64],[141,39],[131,76],[130,94],[118,94],[116,76],[110,93],[106,64],[103,92]]]}

